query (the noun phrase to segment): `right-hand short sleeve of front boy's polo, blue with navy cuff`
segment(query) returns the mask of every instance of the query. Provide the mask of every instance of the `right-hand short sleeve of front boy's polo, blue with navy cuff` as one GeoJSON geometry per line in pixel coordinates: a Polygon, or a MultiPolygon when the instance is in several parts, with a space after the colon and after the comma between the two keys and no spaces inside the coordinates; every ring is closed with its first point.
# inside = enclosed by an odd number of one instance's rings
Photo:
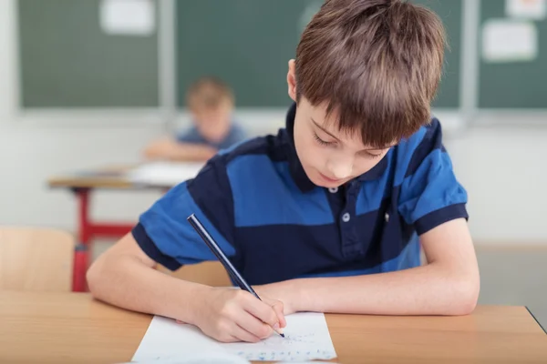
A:
{"type": "Polygon", "coordinates": [[[411,155],[404,167],[400,185],[398,210],[418,235],[456,218],[469,218],[467,192],[455,176],[452,162],[442,145],[439,120],[433,119],[418,140],[408,144],[411,155]]]}

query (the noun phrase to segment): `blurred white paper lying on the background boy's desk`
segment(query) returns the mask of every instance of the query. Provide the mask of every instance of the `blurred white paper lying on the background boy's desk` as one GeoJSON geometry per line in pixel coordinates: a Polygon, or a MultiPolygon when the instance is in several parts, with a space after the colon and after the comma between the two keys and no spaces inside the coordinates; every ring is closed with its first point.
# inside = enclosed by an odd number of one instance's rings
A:
{"type": "Polygon", "coordinates": [[[196,177],[204,165],[201,162],[151,162],[131,169],[127,178],[137,184],[172,187],[196,177]]]}

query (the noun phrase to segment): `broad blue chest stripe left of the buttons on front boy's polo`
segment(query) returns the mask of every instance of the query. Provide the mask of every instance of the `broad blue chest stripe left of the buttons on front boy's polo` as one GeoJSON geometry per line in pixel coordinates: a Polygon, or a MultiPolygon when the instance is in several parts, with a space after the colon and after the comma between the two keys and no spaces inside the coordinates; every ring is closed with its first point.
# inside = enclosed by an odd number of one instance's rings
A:
{"type": "Polygon", "coordinates": [[[236,227],[323,225],[334,222],[322,188],[303,194],[294,184],[287,162],[247,155],[228,165],[236,227]]]}

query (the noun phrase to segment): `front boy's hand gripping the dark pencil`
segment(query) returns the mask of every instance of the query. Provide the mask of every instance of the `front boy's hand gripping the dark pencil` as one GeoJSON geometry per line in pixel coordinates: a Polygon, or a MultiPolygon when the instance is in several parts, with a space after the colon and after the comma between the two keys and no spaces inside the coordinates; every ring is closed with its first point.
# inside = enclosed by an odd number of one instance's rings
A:
{"type": "Polygon", "coordinates": [[[277,300],[261,296],[261,301],[236,288],[209,288],[202,298],[195,324],[222,342],[257,342],[272,335],[273,327],[286,325],[283,303],[277,300]]]}

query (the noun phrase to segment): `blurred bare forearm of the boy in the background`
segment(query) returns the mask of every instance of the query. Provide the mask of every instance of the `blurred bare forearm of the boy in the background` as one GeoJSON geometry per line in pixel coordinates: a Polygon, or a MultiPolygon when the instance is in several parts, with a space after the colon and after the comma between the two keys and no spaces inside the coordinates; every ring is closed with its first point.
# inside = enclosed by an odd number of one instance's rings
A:
{"type": "Polygon", "coordinates": [[[197,143],[184,143],[174,139],[160,139],[144,149],[149,159],[168,159],[174,161],[205,161],[212,158],[217,150],[197,143]]]}

